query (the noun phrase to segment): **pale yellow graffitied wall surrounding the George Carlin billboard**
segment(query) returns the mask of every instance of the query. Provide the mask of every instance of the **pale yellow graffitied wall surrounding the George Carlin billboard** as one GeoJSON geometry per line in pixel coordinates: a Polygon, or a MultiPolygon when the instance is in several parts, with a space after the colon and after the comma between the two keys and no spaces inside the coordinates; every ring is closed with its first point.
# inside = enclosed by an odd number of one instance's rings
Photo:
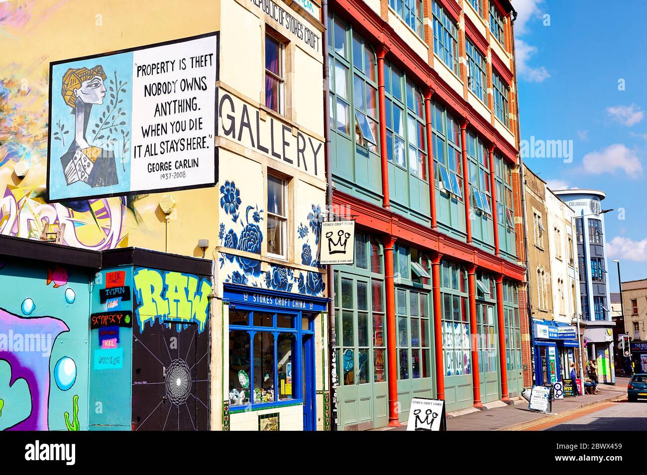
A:
{"type": "MultiPolygon", "coordinates": [[[[71,114],[52,121],[52,136],[48,137],[49,65],[212,32],[219,23],[217,3],[199,3],[196,8],[201,15],[196,17],[193,9],[172,0],[93,0],[85,2],[87,10],[80,17],[79,2],[74,0],[0,2],[3,50],[16,52],[0,58],[1,235],[54,240],[58,233],[62,244],[96,250],[126,246],[165,249],[166,220],[158,206],[164,193],[56,204],[45,201],[48,139],[56,151],[67,151],[76,140],[71,114]],[[142,15],[144,11],[148,14],[142,15]],[[82,41],[70,39],[71,18],[76,19],[73,36],[82,41]],[[20,174],[14,172],[17,164],[23,167],[20,174]]],[[[110,79],[115,80],[114,74],[105,80],[106,106],[113,99],[110,94],[115,93],[109,90],[116,86],[110,79]]],[[[57,84],[53,92],[56,100],[62,100],[62,84],[57,84]]],[[[101,114],[96,120],[99,118],[101,114]]],[[[121,137],[120,127],[108,127],[107,132],[121,137]]],[[[96,127],[90,127],[88,133],[91,129],[101,136],[96,127]]],[[[116,171],[123,171],[122,164],[118,165],[116,171]]],[[[198,238],[210,238],[215,244],[215,210],[196,206],[215,200],[215,196],[215,188],[173,192],[177,213],[170,223],[168,251],[202,256],[198,238]]]]}

